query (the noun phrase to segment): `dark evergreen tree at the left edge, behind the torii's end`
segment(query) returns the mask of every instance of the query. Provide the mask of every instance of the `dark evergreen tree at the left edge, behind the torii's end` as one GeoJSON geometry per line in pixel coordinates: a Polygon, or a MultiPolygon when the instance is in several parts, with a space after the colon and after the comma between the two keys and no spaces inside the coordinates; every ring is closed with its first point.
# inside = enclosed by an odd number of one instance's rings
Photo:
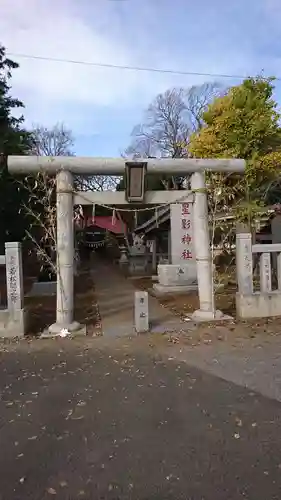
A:
{"type": "Polygon", "coordinates": [[[23,185],[8,172],[8,155],[27,154],[31,146],[31,134],[22,126],[23,116],[19,110],[23,103],[11,96],[9,85],[12,71],[18,64],[6,57],[5,48],[0,46],[0,247],[5,241],[20,241],[26,228],[26,217],[21,210],[27,196],[23,185]]]}

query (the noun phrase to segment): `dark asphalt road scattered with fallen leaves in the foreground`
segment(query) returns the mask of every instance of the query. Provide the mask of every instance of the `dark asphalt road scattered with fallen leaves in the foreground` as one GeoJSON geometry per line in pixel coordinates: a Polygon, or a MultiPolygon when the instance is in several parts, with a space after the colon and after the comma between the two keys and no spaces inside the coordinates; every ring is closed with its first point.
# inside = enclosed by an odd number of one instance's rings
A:
{"type": "Polygon", "coordinates": [[[280,403],[144,339],[2,346],[0,500],[280,499],[280,403]]]}

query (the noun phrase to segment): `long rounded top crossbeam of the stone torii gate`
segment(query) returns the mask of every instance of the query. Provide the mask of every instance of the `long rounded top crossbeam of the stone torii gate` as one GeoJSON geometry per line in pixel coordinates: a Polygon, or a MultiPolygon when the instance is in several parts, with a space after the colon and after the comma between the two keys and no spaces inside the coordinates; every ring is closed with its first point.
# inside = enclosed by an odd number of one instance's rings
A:
{"type": "MultiPolygon", "coordinates": [[[[122,175],[127,158],[92,158],[79,156],[9,156],[8,169],[11,173],[36,173],[41,170],[53,173],[69,170],[79,175],[122,175]]],[[[187,175],[193,172],[213,170],[214,172],[244,172],[245,160],[200,159],[200,158],[145,158],[134,162],[146,162],[149,174],[187,175]]]]}

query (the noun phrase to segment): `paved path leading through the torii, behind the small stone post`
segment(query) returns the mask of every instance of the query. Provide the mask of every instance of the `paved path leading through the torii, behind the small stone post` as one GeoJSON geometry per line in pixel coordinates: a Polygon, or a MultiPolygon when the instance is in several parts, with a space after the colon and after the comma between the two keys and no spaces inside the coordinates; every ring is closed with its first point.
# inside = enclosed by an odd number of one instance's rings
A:
{"type": "MultiPolygon", "coordinates": [[[[93,262],[92,275],[103,335],[119,337],[135,334],[134,285],[115,266],[103,260],[93,262]]],[[[149,296],[149,320],[153,333],[183,330],[187,326],[152,296],[149,296]]]]}

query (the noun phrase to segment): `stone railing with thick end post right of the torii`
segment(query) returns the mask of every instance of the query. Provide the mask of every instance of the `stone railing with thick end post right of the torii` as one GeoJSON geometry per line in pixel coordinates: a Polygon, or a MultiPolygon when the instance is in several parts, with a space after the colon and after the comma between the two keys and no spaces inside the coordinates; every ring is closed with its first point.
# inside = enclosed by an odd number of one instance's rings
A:
{"type": "Polygon", "coordinates": [[[236,235],[238,293],[236,311],[240,318],[281,315],[281,243],[252,244],[250,233],[236,235]],[[259,260],[260,290],[254,290],[254,258],[259,260]],[[277,271],[277,288],[272,287],[272,265],[277,271]]]}

